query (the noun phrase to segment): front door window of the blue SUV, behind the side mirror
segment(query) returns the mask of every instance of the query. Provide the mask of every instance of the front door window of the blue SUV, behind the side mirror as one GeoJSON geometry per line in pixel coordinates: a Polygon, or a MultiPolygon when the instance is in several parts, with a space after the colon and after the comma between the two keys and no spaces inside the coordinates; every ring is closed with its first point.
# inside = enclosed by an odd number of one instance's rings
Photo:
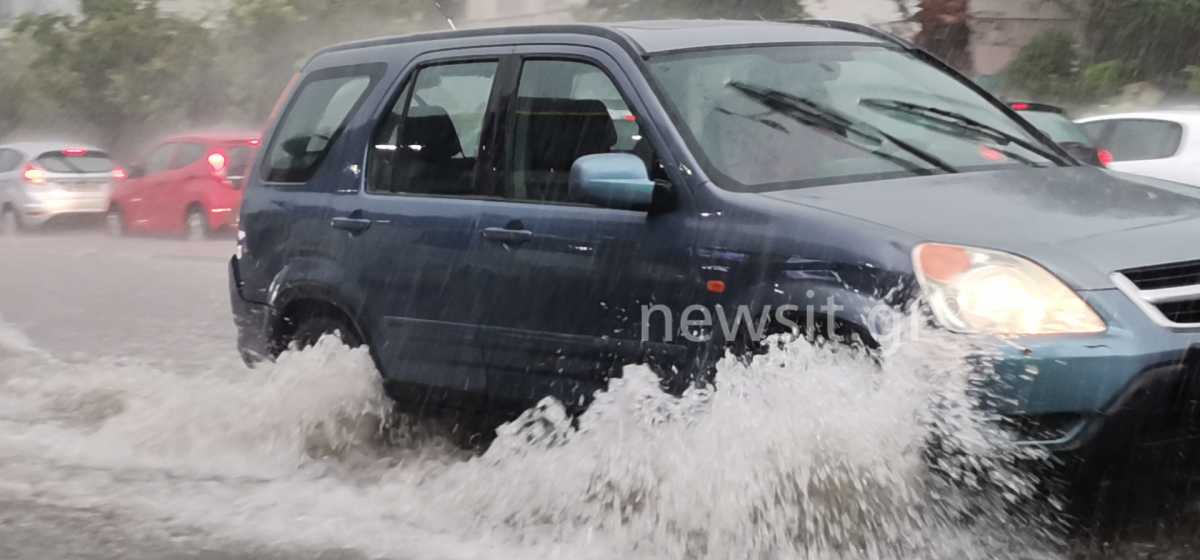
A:
{"type": "Polygon", "coordinates": [[[514,110],[508,198],[571,203],[568,179],[583,156],[626,152],[654,174],[654,150],[617,85],[599,67],[528,60],[514,110]]]}

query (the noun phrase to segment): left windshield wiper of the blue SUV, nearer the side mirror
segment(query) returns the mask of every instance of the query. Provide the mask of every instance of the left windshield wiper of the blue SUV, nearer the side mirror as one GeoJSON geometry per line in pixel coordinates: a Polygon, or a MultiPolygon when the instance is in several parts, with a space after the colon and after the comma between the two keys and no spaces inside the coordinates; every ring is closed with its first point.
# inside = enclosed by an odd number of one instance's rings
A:
{"type": "MultiPolygon", "coordinates": [[[[812,100],[806,100],[804,97],[794,96],[792,94],[787,94],[785,91],[779,91],[770,88],[750,85],[744,82],[730,82],[728,86],[733,88],[734,90],[745,95],[746,97],[750,97],[751,100],[762,103],[768,109],[778,112],[800,124],[833,132],[856,146],[863,147],[859,141],[856,141],[856,138],[860,140],[866,140],[866,143],[871,145],[871,147],[868,149],[868,151],[884,159],[888,159],[914,174],[930,175],[934,173],[934,169],[918,165],[914,162],[911,162],[902,157],[896,157],[893,153],[878,150],[878,146],[883,145],[883,140],[887,140],[888,143],[904,150],[910,156],[914,156],[924,161],[925,163],[932,165],[937,170],[946,173],[956,173],[956,170],[953,167],[950,167],[950,164],[946,163],[937,156],[934,156],[932,153],[929,153],[917,146],[913,146],[907,141],[895,138],[892,134],[888,134],[887,132],[883,132],[866,122],[856,121],[812,100]]],[[[754,120],[756,122],[762,122],[764,125],[769,122],[769,121],[763,122],[758,119],[754,120]]]]}

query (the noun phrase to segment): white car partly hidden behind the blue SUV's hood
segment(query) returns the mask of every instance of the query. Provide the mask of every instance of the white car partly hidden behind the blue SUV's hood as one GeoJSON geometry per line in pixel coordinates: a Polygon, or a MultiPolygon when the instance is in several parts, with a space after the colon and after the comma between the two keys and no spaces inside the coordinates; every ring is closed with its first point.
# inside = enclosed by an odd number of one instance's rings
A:
{"type": "Polygon", "coordinates": [[[1111,169],[1200,186],[1200,112],[1150,112],[1080,119],[1111,169]]]}

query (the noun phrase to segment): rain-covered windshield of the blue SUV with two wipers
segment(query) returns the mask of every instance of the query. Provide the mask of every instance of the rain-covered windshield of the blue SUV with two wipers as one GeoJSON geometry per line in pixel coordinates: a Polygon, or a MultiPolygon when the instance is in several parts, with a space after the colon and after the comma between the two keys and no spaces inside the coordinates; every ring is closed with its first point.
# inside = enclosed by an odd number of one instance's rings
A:
{"type": "Polygon", "coordinates": [[[706,171],[731,189],[1069,164],[995,103],[895,48],[691,50],[650,67],[706,171]]]}

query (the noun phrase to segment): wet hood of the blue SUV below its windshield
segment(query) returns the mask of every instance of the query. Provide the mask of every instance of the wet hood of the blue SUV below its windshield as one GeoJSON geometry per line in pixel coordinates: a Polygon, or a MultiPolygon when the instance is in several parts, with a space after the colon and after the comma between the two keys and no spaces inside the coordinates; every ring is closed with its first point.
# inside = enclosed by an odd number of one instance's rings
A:
{"type": "Polygon", "coordinates": [[[798,188],[766,197],[924,241],[1020,254],[1080,290],[1115,271],[1200,259],[1200,188],[1098,168],[1022,168],[798,188]]]}

